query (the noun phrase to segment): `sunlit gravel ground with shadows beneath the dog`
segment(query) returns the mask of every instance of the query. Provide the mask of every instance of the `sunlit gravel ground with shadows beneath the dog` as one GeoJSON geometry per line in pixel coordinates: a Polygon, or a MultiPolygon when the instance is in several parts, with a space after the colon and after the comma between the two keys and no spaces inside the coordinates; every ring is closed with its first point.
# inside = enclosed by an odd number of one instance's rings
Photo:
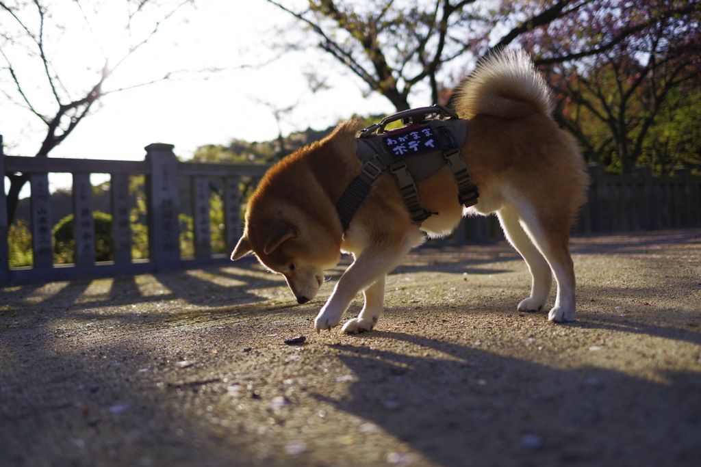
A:
{"type": "Polygon", "coordinates": [[[415,251],[356,336],[252,261],[5,286],[0,465],[698,466],[701,230],[572,249],[565,325],[505,244],[415,251]]]}

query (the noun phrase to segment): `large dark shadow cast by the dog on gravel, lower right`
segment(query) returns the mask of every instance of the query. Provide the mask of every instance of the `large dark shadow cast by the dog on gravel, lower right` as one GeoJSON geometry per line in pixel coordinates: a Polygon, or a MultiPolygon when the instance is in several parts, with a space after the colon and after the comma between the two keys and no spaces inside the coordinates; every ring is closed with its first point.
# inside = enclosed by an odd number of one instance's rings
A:
{"type": "Polygon", "coordinates": [[[601,368],[549,368],[405,333],[374,339],[444,358],[339,345],[339,358],[357,376],[351,396],[319,397],[440,465],[679,466],[701,459],[699,373],[665,372],[667,381],[658,383],[601,368]]]}

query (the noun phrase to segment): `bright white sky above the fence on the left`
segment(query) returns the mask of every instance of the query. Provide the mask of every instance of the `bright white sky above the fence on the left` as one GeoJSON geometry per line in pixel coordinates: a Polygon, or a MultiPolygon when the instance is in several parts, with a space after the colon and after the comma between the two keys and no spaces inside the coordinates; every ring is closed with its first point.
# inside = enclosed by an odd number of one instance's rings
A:
{"type": "MultiPolygon", "coordinates": [[[[94,76],[88,66],[101,67],[102,57],[123,51],[128,40],[123,23],[115,18],[124,12],[103,8],[95,15],[90,13],[93,30],[86,31],[84,22],[74,24],[76,18],[80,20],[70,9],[74,2],[58,1],[57,5],[53,19],[74,26],[60,36],[52,64],[70,89],[94,76]]],[[[134,36],[139,34],[138,27],[135,23],[132,28],[134,36]]],[[[320,50],[280,54],[273,47],[303,37],[301,26],[288,13],[265,0],[197,0],[195,8],[180,10],[147,46],[120,64],[106,88],[144,83],[168,71],[184,72],[168,81],[103,97],[99,108],[50,157],[143,160],[144,146],[159,142],[175,145],[175,153],[187,159],[205,144],[228,144],[231,139],[268,141],[280,130],[289,134],[307,127],[322,129],[354,113],[392,113],[393,106],[386,99],[364,95],[367,88],[360,79],[320,50]],[[260,63],[267,64],[242,68],[260,63]],[[223,71],[198,72],[211,68],[223,71]],[[311,92],[305,78],[310,71],[326,78],[330,89],[311,92]],[[272,109],[289,106],[294,110],[278,127],[272,109]]],[[[26,57],[15,60],[24,64],[26,57]]],[[[40,77],[41,70],[25,72],[20,80],[36,92],[33,102],[41,107],[50,102],[41,97],[46,83],[39,78],[33,83],[33,76],[40,77]]],[[[7,76],[0,80],[0,87],[13,91],[7,76]]],[[[46,113],[51,112],[47,108],[46,113]]],[[[35,115],[5,99],[0,105],[0,125],[7,155],[36,154],[45,133],[35,115]]]]}

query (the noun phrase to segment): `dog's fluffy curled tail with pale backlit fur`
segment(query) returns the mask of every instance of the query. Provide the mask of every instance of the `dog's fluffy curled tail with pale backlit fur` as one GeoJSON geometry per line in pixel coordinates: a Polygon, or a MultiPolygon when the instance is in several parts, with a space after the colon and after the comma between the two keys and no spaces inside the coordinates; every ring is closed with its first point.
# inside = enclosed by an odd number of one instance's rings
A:
{"type": "Polygon", "coordinates": [[[455,109],[461,118],[478,114],[519,118],[551,116],[550,90],[522,50],[492,53],[458,87],[455,109]]]}

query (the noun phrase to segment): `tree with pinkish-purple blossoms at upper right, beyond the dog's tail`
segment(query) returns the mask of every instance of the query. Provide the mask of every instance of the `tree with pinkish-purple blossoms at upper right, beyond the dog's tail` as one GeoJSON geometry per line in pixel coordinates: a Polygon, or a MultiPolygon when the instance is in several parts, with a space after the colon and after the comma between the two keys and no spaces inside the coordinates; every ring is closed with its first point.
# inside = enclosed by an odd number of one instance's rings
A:
{"type": "Polygon", "coordinates": [[[591,160],[624,174],[641,158],[669,92],[701,73],[701,10],[691,1],[599,1],[520,41],[566,98],[560,123],[591,160]]]}

